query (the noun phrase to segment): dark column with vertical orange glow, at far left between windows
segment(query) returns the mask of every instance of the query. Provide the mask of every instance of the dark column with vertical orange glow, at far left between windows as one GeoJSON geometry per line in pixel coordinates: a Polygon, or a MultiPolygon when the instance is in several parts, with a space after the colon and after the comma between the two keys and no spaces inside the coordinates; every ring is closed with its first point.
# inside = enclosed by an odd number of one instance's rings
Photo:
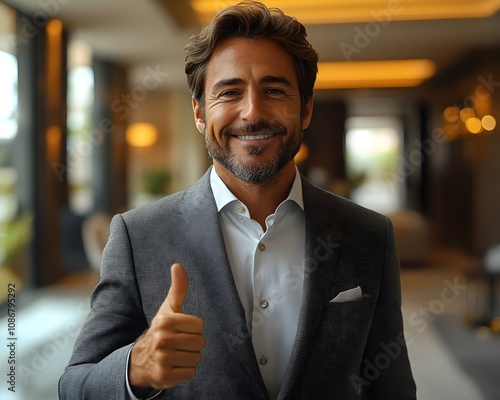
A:
{"type": "Polygon", "coordinates": [[[33,212],[30,283],[62,276],[60,210],[67,204],[66,34],[59,21],[40,26],[18,14],[20,207],[33,212]]]}

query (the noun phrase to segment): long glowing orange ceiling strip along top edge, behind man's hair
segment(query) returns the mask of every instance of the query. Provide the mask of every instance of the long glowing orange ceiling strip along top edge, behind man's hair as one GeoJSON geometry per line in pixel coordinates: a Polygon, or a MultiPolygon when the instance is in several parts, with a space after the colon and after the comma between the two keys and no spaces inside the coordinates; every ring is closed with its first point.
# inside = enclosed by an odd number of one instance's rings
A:
{"type": "MultiPolygon", "coordinates": [[[[484,18],[500,10],[498,0],[269,0],[304,24],[357,23],[386,16],[390,21],[427,19],[484,18]]],[[[238,1],[190,0],[202,23],[208,22],[221,8],[238,1]]]]}

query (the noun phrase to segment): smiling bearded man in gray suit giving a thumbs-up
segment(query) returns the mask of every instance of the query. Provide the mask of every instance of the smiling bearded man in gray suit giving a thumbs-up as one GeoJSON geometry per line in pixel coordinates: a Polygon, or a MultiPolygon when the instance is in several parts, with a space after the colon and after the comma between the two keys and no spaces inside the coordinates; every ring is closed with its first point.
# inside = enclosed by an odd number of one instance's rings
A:
{"type": "Polygon", "coordinates": [[[318,56],[244,2],[186,46],[213,167],[114,217],[61,399],[415,399],[389,220],[294,165],[318,56]]]}

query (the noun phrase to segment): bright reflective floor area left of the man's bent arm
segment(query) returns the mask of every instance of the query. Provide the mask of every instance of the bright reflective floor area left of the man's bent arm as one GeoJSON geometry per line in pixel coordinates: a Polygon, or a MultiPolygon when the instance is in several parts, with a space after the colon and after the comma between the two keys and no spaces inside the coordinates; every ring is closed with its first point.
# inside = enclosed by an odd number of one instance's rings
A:
{"type": "MultiPolygon", "coordinates": [[[[59,285],[18,293],[16,301],[16,387],[8,390],[7,348],[0,335],[0,399],[57,400],[57,383],[89,310],[95,273],[75,275],[59,285]]],[[[0,319],[0,329],[7,326],[0,319]]],[[[5,328],[6,330],[6,328],[5,328]]]]}

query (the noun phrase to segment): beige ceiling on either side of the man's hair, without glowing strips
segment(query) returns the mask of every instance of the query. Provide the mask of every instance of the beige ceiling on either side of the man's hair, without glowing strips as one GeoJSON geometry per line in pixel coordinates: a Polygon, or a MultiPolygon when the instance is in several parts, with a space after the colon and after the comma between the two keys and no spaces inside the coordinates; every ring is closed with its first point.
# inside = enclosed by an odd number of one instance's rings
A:
{"type": "MultiPolygon", "coordinates": [[[[95,55],[129,67],[131,84],[139,83],[149,67],[161,71],[162,86],[185,86],[183,48],[200,27],[194,18],[192,23],[179,21],[182,0],[4,2],[28,15],[59,18],[71,37],[87,42],[95,55]]],[[[500,12],[484,19],[391,21],[385,25],[374,21],[308,25],[307,31],[322,61],[427,58],[435,62],[438,72],[474,49],[500,49],[500,12]],[[360,42],[360,32],[369,32],[371,37],[360,42]]]]}

